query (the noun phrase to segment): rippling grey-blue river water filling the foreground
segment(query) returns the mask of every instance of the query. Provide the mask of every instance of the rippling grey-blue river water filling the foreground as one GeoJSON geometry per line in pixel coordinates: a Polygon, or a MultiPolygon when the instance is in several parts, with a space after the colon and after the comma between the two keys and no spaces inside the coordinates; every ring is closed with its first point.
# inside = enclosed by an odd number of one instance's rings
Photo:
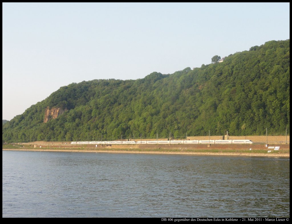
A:
{"type": "Polygon", "coordinates": [[[2,151],[2,217],[290,217],[290,158],[2,151]]]}

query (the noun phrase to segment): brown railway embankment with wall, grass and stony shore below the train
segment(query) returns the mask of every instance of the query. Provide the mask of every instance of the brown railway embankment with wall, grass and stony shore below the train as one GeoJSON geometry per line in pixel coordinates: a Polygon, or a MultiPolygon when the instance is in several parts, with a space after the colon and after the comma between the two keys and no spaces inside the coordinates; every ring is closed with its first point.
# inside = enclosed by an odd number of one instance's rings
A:
{"type": "Polygon", "coordinates": [[[290,157],[290,144],[149,144],[149,145],[67,145],[67,144],[4,144],[2,150],[160,153],[194,155],[235,155],[290,157]]]}

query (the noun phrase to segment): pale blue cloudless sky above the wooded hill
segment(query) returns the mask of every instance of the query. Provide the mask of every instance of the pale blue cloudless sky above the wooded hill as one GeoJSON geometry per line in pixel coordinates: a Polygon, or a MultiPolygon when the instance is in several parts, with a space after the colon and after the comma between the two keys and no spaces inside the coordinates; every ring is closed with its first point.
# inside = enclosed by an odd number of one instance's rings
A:
{"type": "Polygon", "coordinates": [[[2,119],[73,82],[201,67],[289,27],[289,2],[2,3],[2,119]]]}

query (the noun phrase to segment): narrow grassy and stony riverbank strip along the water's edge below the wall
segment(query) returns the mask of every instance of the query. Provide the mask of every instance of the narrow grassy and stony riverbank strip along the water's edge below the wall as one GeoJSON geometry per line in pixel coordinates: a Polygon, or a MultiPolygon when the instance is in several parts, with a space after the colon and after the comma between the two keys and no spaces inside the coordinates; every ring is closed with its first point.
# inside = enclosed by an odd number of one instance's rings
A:
{"type": "Polygon", "coordinates": [[[87,148],[2,148],[2,150],[18,151],[53,151],[53,152],[107,152],[107,153],[150,153],[150,154],[188,154],[188,155],[220,155],[220,156],[268,156],[268,157],[290,157],[289,151],[267,152],[265,150],[171,150],[171,149],[87,149],[87,148]]]}

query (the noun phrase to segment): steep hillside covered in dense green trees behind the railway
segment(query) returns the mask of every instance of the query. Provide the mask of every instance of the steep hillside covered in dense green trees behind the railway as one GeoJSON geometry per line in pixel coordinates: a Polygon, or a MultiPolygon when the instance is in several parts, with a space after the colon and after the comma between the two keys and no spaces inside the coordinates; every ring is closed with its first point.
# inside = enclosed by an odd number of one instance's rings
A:
{"type": "MultiPolygon", "coordinates": [[[[211,59],[210,55],[210,59],[211,59]]],[[[225,56],[225,55],[223,55],[225,56]]],[[[143,79],[61,87],[3,124],[5,142],[285,134],[290,122],[290,40],[268,41],[221,63],[143,79]],[[48,107],[48,108],[47,108],[48,107]],[[63,111],[56,119],[48,109],[63,111]]]]}

